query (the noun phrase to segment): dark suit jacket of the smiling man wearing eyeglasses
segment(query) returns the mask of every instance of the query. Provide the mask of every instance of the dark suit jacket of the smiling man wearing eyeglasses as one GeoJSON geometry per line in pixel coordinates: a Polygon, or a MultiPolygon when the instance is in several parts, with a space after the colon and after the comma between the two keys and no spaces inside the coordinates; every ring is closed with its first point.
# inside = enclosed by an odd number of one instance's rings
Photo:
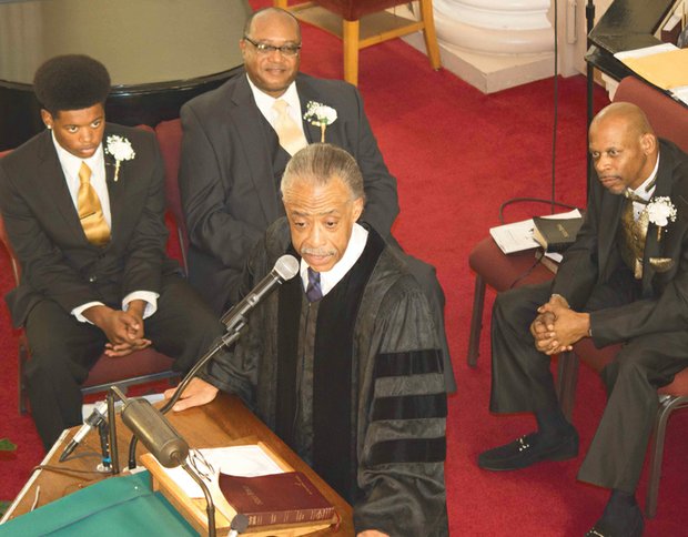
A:
{"type": "MultiPolygon", "coordinates": [[[[337,111],[325,141],[358,162],[367,197],[363,219],[387,237],[398,214],[396,180],[383,161],[357,90],[306,74],[299,74],[296,88],[304,112],[308,101],[337,111]]],[[[251,247],[284,209],[264,120],[243,72],[188,102],[181,119],[179,180],[191,241],[189,277],[220,312],[251,247]]],[[[320,126],[304,121],[304,131],[308,142],[320,142],[320,126]]]]}

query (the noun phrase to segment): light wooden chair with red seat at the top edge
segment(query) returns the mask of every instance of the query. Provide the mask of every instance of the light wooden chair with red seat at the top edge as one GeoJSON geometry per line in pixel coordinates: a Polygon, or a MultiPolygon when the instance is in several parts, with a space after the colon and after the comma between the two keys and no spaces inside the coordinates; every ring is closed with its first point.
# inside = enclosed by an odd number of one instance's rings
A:
{"type": "Polygon", "coordinates": [[[354,85],[358,84],[358,51],[361,49],[417,31],[423,31],[432,68],[442,68],[433,17],[433,0],[419,0],[419,21],[384,13],[386,9],[407,3],[404,0],[315,0],[290,7],[289,0],[274,0],[275,7],[301,12],[299,14],[301,19],[342,39],[344,42],[344,80],[354,85]],[[323,8],[341,18],[341,26],[337,28],[337,18],[322,17],[322,13],[314,18],[306,16],[303,11],[314,7],[323,8]],[[362,24],[363,19],[374,23],[375,29],[362,24]]]}

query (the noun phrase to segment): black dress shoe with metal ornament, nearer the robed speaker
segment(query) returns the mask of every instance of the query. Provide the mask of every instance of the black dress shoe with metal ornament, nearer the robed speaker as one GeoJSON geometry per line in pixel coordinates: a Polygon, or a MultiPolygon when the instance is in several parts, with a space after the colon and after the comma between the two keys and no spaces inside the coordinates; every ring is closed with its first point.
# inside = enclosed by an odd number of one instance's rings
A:
{"type": "Polygon", "coordinates": [[[566,460],[576,455],[578,433],[571,426],[554,439],[545,440],[539,433],[530,433],[504,446],[483,452],[478,456],[478,466],[488,470],[513,470],[540,460],[566,460]]]}

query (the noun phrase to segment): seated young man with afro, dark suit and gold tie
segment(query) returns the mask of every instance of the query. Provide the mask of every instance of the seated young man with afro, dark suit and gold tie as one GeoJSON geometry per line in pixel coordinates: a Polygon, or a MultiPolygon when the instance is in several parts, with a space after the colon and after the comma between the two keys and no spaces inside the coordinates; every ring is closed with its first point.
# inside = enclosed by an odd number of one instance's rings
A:
{"type": "Polygon", "coordinates": [[[223,328],[165,255],[154,135],[105,123],[104,65],[55,57],[34,91],[47,130],[0,160],[0,209],[22,268],[7,301],[27,331],[27,388],[48,448],[81,422],[80,385],[103,351],[118,359],[153,345],[184,372],[223,328]]]}

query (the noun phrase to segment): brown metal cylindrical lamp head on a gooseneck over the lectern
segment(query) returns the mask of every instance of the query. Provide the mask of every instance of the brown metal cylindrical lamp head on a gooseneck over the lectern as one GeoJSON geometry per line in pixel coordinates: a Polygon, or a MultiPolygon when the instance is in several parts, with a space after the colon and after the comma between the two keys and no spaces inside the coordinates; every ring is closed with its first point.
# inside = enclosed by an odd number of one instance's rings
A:
{"type": "Polygon", "coordinates": [[[189,444],[148,399],[123,399],[122,422],[141,438],[165,468],[174,468],[189,456],[189,444]]]}

